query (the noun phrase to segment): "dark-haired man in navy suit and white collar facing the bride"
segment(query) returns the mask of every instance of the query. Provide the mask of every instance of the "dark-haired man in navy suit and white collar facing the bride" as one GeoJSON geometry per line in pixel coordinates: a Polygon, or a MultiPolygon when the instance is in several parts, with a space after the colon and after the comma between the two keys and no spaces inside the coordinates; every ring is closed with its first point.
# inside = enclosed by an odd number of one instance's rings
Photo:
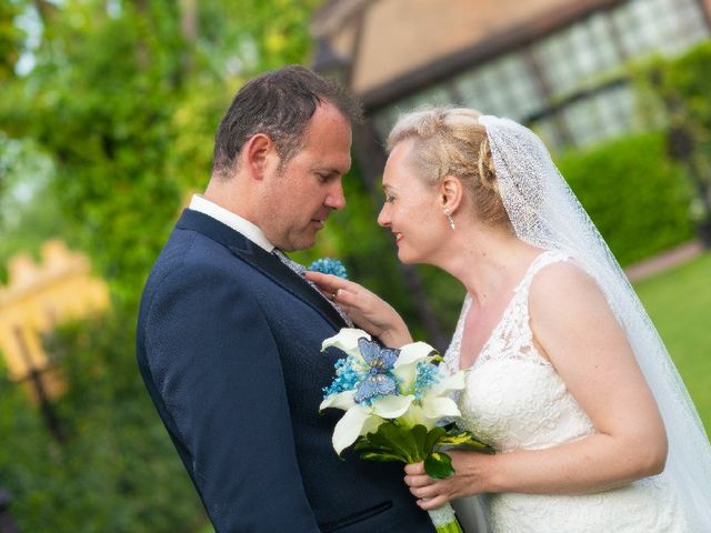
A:
{"type": "Polygon", "coordinates": [[[336,455],[341,413],[318,408],[338,353],[320,348],[346,324],[281,253],[346,205],[359,112],[301,67],[248,82],[146,283],[141,374],[220,533],[433,531],[401,465],[336,455]]]}

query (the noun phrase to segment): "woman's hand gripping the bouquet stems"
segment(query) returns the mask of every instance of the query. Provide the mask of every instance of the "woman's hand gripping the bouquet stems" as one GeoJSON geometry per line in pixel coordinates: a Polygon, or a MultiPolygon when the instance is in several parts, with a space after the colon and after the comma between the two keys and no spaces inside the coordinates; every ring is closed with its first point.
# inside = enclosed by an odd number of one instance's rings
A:
{"type": "Polygon", "coordinates": [[[418,499],[420,509],[431,511],[458,497],[489,492],[485,479],[493,455],[455,450],[448,451],[447,454],[452,457],[454,474],[444,480],[427,475],[423,463],[412,463],[404,467],[404,482],[418,499]]]}

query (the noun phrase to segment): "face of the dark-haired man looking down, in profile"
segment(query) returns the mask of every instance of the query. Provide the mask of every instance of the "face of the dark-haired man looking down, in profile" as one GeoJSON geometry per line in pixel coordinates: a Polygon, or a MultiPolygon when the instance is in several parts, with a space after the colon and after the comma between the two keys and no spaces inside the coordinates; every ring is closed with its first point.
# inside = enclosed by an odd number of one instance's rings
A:
{"type": "Polygon", "coordinates": [[[320,104],[301,150],[270,177],[260,225],[272,244],[284,251],[313,245],[329,213],[346,207],[341,179],[350,151],[350,123],[333,105],[320,104]]]}

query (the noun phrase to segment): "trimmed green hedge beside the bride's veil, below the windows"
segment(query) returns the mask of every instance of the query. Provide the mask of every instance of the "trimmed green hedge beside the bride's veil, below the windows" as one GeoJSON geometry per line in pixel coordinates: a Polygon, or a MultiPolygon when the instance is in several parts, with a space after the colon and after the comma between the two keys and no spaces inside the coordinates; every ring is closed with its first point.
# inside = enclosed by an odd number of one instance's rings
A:
{"type": "Polygon", "coordinates": [[[667,155],[664,135],[621,138],[557,160],[622,265],[693,237],[689,185],[667,155]]]}

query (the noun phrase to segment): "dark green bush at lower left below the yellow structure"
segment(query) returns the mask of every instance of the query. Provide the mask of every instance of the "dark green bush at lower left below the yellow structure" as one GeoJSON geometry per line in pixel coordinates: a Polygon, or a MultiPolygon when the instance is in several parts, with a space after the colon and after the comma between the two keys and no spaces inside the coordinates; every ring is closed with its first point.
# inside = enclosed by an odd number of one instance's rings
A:
{"type": "Polygon", "coordinates": [[[207,519],[133,355],[133,313],[57,331],[48,342],[67,382],[53,402],[59,443],[24,390],[0,375],[0,480],[20,531],[200,531],[207,519]]]}

